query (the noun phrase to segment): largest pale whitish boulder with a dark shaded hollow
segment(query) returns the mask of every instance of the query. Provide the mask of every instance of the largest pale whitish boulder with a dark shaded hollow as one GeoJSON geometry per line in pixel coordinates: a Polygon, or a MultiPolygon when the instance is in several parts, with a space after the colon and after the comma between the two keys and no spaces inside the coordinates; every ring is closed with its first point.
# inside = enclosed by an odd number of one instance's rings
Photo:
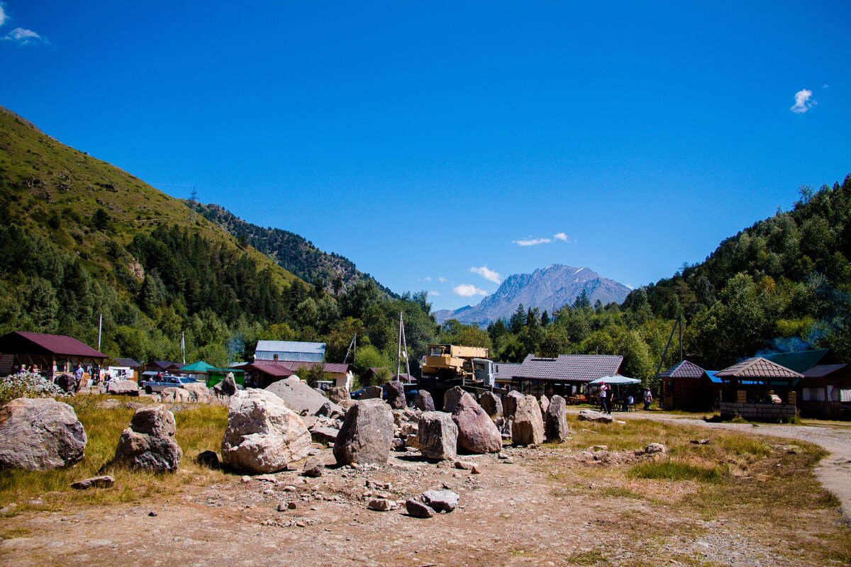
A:
{"type": "Polygon", "coordinates": [[[311,434],[301,417],[268,390],[249,388],[231,397],[221,460],[237,470],[274,473],[307,456],[311,434]]]}

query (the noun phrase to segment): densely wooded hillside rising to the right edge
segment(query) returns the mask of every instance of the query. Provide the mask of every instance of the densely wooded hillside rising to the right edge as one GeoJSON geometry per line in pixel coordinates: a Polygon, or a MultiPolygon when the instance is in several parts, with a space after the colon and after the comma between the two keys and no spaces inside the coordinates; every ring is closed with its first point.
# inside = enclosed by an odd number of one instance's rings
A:
{"type": "MultiPolygon", "coordinates": [[[[624,354],[623,373],[645,379],[677,316],[685,357],[706,369],[760,352],[825,347],[851,361],[849,259],[851,176],[802,189],[791,211],[728,238],[704,262],[631,292],[620,306],[583,296],[554,314],[520,306],[487,335],[457,322],[448,330],[494,347],[502,360],[529,352],[624,354]]],[[[663,369],[677,360],[675,342],[663,369]]]]}

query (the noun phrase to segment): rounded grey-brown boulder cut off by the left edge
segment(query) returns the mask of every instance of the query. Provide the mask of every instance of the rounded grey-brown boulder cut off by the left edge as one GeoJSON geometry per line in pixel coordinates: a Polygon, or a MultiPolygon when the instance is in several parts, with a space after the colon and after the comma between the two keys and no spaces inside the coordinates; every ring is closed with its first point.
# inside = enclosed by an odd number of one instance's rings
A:
{"type": "Polygon", "coordinates": [[[0,466],[68,467],[83,458],[87,440],[71,405],[17,398],[0,408],[0,466]]]}

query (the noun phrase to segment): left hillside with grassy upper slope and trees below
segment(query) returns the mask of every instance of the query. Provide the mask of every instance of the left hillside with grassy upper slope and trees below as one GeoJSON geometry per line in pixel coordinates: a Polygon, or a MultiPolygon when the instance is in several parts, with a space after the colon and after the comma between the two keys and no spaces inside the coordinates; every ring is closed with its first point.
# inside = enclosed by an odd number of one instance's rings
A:
{"type": "MultiPolygon", "coordinates": [[[[332,284],[333,285],[333,284],[332,284]]],[[[412,358],[437,332],[425,294],[371,278],[328,293],[129,173],[0,109],[0,333],[67,334],[113,357],[224,366],[258,338],[324,340],[390,366],[405,313],[412,358]]]]}

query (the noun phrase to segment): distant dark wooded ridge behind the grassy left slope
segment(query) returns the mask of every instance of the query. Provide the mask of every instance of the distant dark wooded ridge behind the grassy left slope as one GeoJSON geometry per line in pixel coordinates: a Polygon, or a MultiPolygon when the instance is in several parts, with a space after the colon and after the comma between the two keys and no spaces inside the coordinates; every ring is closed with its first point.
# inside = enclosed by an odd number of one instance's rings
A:
{"type": "MultiPolygon", "coordinates": [[[[288,230],[271,227],[264,229],[238,218],[219,205],[203,205],[196,201],[186,201],[186,205],[237,236],[241,242],[263,252],[302,280],[321,282],[326,292],[335,295],[346,292],[358,281],[371,278],[357,269],[348,258],[334,252],[323,252],[313,246],[311,241],[288,230]]],[[[393,295],[390,290],[379,286],[388,296],[393,295]]]]}

